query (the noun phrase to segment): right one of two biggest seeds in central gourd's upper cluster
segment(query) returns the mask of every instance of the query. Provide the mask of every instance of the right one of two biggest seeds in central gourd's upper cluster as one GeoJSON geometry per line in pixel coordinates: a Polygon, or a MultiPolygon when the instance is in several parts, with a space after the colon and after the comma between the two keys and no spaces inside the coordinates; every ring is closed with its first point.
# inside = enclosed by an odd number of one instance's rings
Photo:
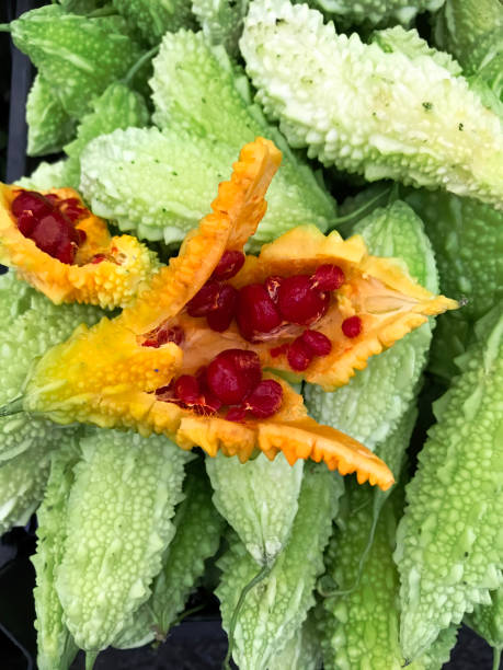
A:
{"type": "Polygon", "coordinates": [[[327,312],[329,302],[330,296],[313,289],[307,275],[286,277],[279,286],[279,312],[283,319],[290,323],[313,323],[327,312]]]}

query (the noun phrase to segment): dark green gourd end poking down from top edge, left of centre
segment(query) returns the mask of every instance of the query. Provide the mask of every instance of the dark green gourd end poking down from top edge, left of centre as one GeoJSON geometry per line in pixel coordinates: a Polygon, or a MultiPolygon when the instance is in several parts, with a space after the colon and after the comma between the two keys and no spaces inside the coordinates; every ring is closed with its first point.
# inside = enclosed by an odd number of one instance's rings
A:
{"type": "Polygon", "coordinates": [[[167,31],[194,26],[191,0],[112,0],[112,4],[151,45],[167,31]]]}

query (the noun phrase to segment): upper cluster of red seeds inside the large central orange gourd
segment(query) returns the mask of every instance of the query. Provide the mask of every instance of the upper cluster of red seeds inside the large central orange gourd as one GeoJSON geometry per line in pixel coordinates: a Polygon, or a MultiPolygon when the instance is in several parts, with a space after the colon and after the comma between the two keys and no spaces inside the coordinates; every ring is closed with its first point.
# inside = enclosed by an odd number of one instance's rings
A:
{"type": "MultiPolygon", "coordinates": [[[[241,252],[225,252],[212,277],[187,303],[187,312],[191,316],[206,317],[208,326],[219,333],[236,319],[242,337],[252,343],[267,339],[285,324],[313,324],[327,313],[330,291],[341,288],[345,281],[339,266],[324,264],[312,275],[271,276],[264,284],[249,284],[238,291],[225,280],[233,277],[243,263],[241,252]]],[[[361,331],[358,316],[342,323],[346,337],[356,337],[361,331]]],[[[290,368],[301,371],[316,356],[328,356],[331,349],[325,335],[306,330],[293,343],[271,349],[271,354],[286,354],[290,368]]]]}

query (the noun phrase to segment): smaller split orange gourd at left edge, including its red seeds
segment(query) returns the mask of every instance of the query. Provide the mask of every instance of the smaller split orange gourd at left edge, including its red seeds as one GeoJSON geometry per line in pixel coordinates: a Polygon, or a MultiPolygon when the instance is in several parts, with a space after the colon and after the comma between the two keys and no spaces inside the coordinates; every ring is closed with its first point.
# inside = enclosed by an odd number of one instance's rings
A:
{"type": "Polygon", "coordinates": [[[157,269],[130,235],[111,236],[72,188],[34,192],[0,184],[0,261],[56,304],[115,308],[157,269]]]}

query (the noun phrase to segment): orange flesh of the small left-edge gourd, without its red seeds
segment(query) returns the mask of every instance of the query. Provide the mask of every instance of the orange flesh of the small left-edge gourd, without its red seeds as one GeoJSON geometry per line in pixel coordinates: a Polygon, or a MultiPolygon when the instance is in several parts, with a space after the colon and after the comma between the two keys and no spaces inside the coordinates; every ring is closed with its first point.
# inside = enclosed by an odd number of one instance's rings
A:
{"type": "MultiPolygon", "coordinates": [[[[132,235],[111,236],[103,219],[89,210],[77,221],[77,231],[85,233],[75,263],[61,263],[38,249],[14,222],[13,200],[24,189],[0,184],[0,259],[16,269],[18,276],[43,292],[54,303],[81,302],[102,308],[124,307],[157,268],[155,254],[132,235]],[[96,257],[100,261],[96,263],[96,257]]],[[[50,188],[41,195],[60,200],[76,199],[72,188],[50,188]]]]}

